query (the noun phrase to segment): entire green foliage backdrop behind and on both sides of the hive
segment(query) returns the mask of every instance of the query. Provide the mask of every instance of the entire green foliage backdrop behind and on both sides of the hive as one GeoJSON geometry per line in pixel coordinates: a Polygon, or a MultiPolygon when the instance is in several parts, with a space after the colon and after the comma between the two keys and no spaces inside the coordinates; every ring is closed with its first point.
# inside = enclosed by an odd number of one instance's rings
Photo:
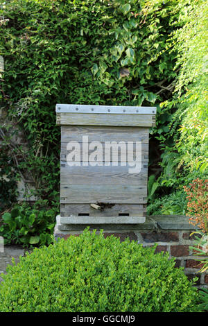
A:
{"type": "Polygon", "coordinates": [[[2,106],[24,134],[10,148],[1,126],[0,164],[13,171],[4,205],[24,176],[58,212],[56,103],[156,105],[149,213],[183,214],[182,185],[207,173],[207,1],[10,0],[0,15],[2,106]]]}

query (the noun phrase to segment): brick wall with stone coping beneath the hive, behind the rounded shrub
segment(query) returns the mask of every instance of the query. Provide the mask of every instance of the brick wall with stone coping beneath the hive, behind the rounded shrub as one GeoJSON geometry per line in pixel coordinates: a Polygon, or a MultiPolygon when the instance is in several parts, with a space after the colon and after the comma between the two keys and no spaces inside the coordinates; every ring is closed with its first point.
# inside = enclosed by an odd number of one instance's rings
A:
{"type": "MultiPolygon", "coordinates": [[[[198,277],[198,288],[208,288],[208,273],[199,273],[202,264],[194,260],[192,250],[193,236],[190,234],[195,230],[189,223],[187,216],[160,215],[148,216],[146,222],[137,225],[93,225],[91,229],[104,230],[105,237],[114,234],[123,241],[126,237],[142,243],[143,246],[153,246],[157,243],[156,252],[168,252],[169,257],[175,257],[175,267],[182,266],[184,273],[190,280],[198,277]],[[116,228],[116,230],[115,230],[116,228]]],[[[71,234],[80,234],[83,225],[62,225],[60,216],[57,216],[54,235],[67,239],[71,234]]]]}

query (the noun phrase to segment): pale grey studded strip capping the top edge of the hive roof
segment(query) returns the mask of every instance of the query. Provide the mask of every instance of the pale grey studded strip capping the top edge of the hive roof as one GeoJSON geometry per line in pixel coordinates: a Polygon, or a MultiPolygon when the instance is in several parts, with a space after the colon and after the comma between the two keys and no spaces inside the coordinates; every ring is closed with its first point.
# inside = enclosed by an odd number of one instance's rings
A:
{"type": "Polygon", "coordinates": [[[83,105],[83,104],[56,104],[56,112],[65,113],[105,113],[105,114],[156,114],[156,107],[150,106],[114,106],[114,105],[83,105]]]}

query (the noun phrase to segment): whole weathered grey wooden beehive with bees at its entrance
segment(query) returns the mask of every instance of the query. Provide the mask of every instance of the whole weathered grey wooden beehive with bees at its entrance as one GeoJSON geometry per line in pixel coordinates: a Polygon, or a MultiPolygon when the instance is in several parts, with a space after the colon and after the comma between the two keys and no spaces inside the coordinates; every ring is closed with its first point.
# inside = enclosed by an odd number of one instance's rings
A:
{"type": "Polygon", "coordinates": [[[144,223],[149,128],[155,125],[156,108],[57,104],[56,114],[61,126],[61,223],[144,223]],[[93,148],[94,141],[99,144],[93,148]],[[76,143],[73,148],[71,142],[76,143]],[[128,155],[121,155],[124,145],[113,148],[106,157],[109,142],[132,144],[132,164],[137,160],[139,165],[140,160],[141,171],[129,172],[128,155]],[[135,153],[136,142],[141,142],[139,159],[135,153]],[[97,161],[92,162],[98,149],[97,161]],[[72,152],[75,162],[68,164],[67,158],[72,152]]]}

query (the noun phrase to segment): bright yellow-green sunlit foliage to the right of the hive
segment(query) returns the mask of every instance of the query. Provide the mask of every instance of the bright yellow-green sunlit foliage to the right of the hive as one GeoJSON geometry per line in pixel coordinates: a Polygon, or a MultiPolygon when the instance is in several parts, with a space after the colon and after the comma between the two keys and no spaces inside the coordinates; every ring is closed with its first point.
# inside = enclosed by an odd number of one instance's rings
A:
{"type": "MultiPolygon", "coordinates": [[[[157,187],[157,196],[153,194],[150,203],[159,196],[162,200],[169,189],[184,201],[186,209],[182,187],[196,178],[206,178],[208,171],[208,3],[201,0],[179,2],[182,27],[175,29],[169,42],[173,45],[170,51],[174,49],[177,52],[174,69],[180,69],[171,100],[160,105],[161,118],[165,118],[166,112],[172,112],[172,119],[166,124],[170,141],[162,141],[163,134],[157,130],[162,146],[162,173],[153,182],[153,190],[157,187]],[[188,2],[189,6],[185,7],[188,2]]],[[[178,209],[177,206],[175,208],[178,209]]]]}

